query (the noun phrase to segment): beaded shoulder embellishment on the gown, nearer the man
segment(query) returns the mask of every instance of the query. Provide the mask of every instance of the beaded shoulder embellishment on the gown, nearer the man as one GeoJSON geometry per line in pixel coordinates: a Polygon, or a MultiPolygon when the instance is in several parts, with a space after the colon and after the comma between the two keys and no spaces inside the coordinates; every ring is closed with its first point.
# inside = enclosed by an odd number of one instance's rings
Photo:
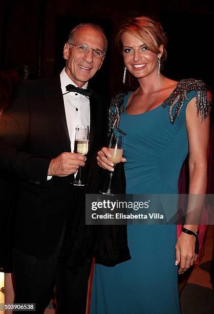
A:
{"type": "Polygon", "coordinates": [[[126,133],[120,130],[119,128],[120,114],[123,114],[125,111],[123,107],[123,100],[126,95],[127,93],[120,93],[111,101],[109,108],[109,135],[111,134],[115,127],[119,133],[126,135],[126,133]],[[112,111],[111,107],[115,108],[115,112],[112,111]]]}

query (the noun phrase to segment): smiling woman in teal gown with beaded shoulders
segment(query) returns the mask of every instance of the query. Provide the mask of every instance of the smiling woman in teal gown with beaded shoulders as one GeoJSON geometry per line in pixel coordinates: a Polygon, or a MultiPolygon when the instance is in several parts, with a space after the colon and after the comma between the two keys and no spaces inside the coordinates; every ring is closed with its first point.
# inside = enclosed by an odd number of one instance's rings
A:
{"type": "MultiPolygon", "coordinates": [[[[112,102],[110,125],[124,136],[126,193],[177,194],[189,152],[189,193],[206,193],[209,138],[207,92],[196,80],[176,82],[160,73],[166,37],[147,17],[126,22],[117,40],[138,88],[112,102]],[[206,123],[204,123],[206,119],[206,123]]],[[[125,76],[125,75],[124,75],[125,76]]],[[[107,148],[98,164],[113,171],[107,148]]],[[[184,225],[197,232],[197,225],[184,225]]],[[[178,314],[178,273],[197,259],[195,237],[176,225],[128,225],[132,259],[115,267],[95,265],[91,314],[178,314]],[[180,266],[178,269],[178,265],[180,266]]]]}

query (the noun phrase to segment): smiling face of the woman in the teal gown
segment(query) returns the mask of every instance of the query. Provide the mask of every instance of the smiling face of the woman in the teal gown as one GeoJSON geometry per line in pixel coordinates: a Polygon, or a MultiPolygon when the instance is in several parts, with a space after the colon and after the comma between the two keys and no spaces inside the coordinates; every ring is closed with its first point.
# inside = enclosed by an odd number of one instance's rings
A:
{"type": "Polygon", "coordinates": [[[124,64],[136,78],[152,74],[157,77],[157,58],[163,53],[162,45],[159,54],[149,51],[146,45],[130,32],[122,34],[122,45],[124,64]]]}

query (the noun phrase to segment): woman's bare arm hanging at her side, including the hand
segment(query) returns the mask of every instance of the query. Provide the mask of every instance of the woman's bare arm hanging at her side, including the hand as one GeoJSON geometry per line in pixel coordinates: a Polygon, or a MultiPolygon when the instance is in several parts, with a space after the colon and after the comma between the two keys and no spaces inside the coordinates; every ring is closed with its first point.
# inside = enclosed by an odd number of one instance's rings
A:
{"type": "MultiPolygon", "coordinates": [[[[211,94],[208,93],[208,102],[211,94]]],[[[189,194],[205,194],[207,189],[207,153],[209,143],[209,116],[206,122],[202,122],[197,116],[195,98],[192,99],[186,108],[186,127],[189,143],[189,194]]],[[[198,204],[199,205],[199,204],[198,204]]],[[[194,198],[188,202],[187,212],[197,215],[194,198]]],[[[200,212],[198,212],[200,216],[200,212]]],[[[200,219],[200,217],[198,217],[200,219]]],[[[188,223],[188,222],[187,222],[188,223]]],[[[185,224],[184,228],[191,231],[198,231],[198,224],[185,224]]],[[[176,244],[176,265],[180,263],[179,273],[186,271],[194,264],[198,255],[195,254],[195,237],[181,232],[176,244]]]]}

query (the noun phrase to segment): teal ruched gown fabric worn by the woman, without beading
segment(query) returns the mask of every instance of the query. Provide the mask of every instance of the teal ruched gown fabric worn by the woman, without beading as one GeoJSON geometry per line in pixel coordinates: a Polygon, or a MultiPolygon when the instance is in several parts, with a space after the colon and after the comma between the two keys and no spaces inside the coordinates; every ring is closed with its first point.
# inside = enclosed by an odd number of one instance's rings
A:
{"type": "MultiPolygon", "coordinates": [[[[124,98],[124,107],[131,92],[124,98]]],[[[121,115],[127,194],[178,193],[178,179],[188,153],[185,122],[188,93],[172,125],[168,109],[121,115]]],[[[199,118],[200,119],[200,118],[199,118]]],[[[178,314],[176,225],[128,225],[130,261],[106,267],[96,264],[91,314],[178,314]]]]}

